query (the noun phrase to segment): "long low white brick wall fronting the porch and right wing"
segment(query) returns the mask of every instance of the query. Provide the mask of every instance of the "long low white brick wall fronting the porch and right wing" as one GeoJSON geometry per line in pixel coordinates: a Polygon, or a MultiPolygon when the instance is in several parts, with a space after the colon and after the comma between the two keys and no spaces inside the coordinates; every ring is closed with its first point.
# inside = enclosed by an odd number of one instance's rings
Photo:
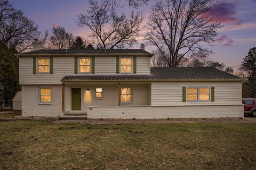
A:
{"type": "Polygon", "coordinates": [[[243,105],[90,107],[88,118],[244,117],[243,105]]]}

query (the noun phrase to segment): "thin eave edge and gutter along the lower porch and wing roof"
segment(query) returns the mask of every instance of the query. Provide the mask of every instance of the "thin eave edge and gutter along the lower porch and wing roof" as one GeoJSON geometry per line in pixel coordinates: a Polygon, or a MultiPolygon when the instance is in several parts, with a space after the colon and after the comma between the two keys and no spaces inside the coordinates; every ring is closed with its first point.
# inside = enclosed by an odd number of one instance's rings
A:
{"type": "Polygon", "coordinates": [[[136,79],[120,79],[120,80],[61,80],[62,82],[120,82],[120,81],[125,81],[125,82],[132,82],[132,81],[142,81],[142,82],[168,82],[168,81],[173,81],[173,82],[177,82],[177,81],[244,81],[244,79],[147,79],[147,80],[136,80],[136,79]]]}

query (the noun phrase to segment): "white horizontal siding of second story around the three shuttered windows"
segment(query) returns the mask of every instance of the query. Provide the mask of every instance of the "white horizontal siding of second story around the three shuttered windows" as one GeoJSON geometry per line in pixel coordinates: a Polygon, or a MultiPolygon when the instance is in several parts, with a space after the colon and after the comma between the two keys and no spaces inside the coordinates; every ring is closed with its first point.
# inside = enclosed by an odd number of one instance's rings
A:
{"type": "MultiPolygon", "coordinates": [[[[61,84],[74,74],[74,57],[53,57],[53,74],[33,74],[33,57],[19,58],[20,84],[61,84]]],[[[94,75],[116,74],[116,57],[95,57],[94,75]]],[[[150,74],[150,57],[137,57],[137,74],[150,74]]]]}

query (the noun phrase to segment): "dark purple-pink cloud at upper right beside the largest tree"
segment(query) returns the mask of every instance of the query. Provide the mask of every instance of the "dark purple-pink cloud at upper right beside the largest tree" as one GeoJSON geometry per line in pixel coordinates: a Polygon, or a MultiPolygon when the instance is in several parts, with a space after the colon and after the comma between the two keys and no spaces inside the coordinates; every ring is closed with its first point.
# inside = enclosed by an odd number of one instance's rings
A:
{"type": "Polygon", "coordinates": [[[236,3],[220,2],[213,6],[207,14],[212,17],[214,21],[239,25],[243,20],[236,18],[236,7],[236,3]]]}

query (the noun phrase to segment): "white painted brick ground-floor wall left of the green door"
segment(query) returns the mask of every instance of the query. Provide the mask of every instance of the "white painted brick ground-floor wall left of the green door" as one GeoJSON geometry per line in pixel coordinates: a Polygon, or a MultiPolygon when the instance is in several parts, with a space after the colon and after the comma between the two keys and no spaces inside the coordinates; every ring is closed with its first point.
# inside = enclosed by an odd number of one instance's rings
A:
{"type": "Polygon", "coordinates": [[[22,116],[60,116],[61,85],[23,85],[22,86],[22,116]],[[52,103],[38,104],[39,87],[51,87],[52,103]]]}

